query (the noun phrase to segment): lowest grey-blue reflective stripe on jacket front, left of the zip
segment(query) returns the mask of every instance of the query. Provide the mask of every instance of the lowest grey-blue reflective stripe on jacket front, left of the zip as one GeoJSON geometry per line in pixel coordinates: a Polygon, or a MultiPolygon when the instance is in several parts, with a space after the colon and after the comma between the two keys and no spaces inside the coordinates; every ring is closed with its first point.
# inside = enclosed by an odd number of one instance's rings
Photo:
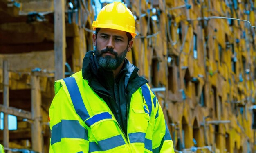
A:
{"type": "Polygon", "coordinates": [[[98,141],[98,144],[96,142],[90,142],[89,143],[89,153],[94,151],[106,151],[109,149],[113,149],[118,146],[122,146],[126,144],[124,142],[124,138],[122,135],[113,136],[108,139],[104,139],[101,141],[98,141]]]}

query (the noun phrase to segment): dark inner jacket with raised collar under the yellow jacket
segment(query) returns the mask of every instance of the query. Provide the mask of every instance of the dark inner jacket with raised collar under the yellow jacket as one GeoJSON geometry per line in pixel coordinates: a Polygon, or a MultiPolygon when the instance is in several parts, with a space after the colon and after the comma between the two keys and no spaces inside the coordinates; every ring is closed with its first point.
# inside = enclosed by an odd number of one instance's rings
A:
{"type": "Polygon", "coordinates": [[[127,114],[132,94],[142,85],[148,83],[139,77],[138,68],[127,59],[116,79],[112,71],[107,71],[98,65],[94,51],[86,53],[83,59],[83,79],[103,98],[114,114],[121,129],[127,134],[127,114]]]}

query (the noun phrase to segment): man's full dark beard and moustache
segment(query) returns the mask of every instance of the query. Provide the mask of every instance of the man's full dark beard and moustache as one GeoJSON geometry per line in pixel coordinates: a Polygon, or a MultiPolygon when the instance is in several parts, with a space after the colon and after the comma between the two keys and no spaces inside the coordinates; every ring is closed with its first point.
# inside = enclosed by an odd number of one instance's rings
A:
{"type": "Polygon", "coordinates": [[[99,51],[96,46],[95,56],[99,66],[101,66],[105,70],[112,71],[116,70],[121,65],[121,63],[123,63],[126,57],[127,50],[128,48],[126,48],[123,52],[121,52],[120,55],[118,55],[117,52],[114,52],[113,48],[106,48],[99,51]],[[113,54],[115,57],[113,58],[110,55],[106,55],[105,57],[103,57],[102,55],[106,52],[113,54]]]}

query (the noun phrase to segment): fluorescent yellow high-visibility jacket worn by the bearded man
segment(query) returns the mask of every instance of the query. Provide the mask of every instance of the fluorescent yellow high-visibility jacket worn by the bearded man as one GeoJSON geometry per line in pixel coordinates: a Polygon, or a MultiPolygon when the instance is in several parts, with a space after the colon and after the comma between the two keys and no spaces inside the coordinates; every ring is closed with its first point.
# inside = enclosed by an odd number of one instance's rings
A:
{"type": "Polygon", "coordinates": [[[81,71],[54,87],[51,153],[174,153],[161,106],[147,84],[132,95],[127,133],[81,71]]]}

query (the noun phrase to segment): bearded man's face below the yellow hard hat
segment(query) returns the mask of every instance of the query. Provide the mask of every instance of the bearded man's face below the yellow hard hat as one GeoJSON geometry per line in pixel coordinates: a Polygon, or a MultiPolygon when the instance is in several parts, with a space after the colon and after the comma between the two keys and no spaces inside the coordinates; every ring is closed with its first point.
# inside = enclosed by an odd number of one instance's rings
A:
{"type": "Polygon", "coordinates": [[[101,28],[97,36],[93,35],[93,44],[96,46],[95,54],[99,66],[109,71],[122,66],[132,43],[131,40],[128,44],[125,31],[101,28]]]}

